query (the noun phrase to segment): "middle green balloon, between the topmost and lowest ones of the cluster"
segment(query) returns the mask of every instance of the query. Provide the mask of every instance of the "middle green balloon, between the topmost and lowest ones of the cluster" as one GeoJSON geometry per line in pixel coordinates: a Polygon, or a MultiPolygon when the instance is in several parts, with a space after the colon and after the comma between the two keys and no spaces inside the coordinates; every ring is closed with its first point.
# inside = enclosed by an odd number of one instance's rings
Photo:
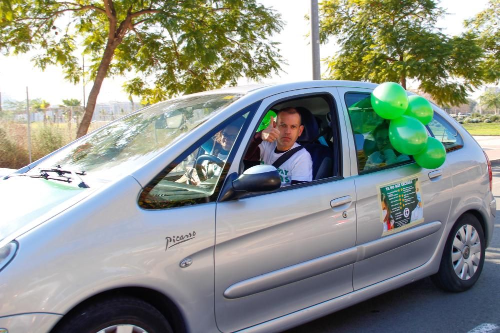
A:
{"type": "Polygon", "coordinates": [[[405,155],[415,155],[427,144],[425,126],[408,116],[400,116],[389,123],[389,141],[395,150],[405,155]]]}

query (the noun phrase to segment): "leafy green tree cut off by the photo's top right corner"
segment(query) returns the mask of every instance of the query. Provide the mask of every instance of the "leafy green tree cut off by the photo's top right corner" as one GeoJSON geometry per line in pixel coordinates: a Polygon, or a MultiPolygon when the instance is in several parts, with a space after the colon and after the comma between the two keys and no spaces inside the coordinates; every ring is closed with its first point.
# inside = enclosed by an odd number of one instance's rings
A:
{"type": "Polygon", "coordinates": [[[484,50],[481,63],[483,77],[487,83],[500,80],[500,0],[489,0],[486,9],[474,18],[465,21],[470,34],[476,34],[484,50]]]}

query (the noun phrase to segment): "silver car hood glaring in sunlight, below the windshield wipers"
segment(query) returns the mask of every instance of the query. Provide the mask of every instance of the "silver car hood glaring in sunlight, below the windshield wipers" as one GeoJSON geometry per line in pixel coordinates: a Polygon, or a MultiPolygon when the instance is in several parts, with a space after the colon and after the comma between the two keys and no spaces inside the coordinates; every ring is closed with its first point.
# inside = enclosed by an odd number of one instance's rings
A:
{"type": "Polygon", "coordinates": [[[62,212],[90,192],[87,188],[28,176],[0,180],[0,243],[62,212]]]}

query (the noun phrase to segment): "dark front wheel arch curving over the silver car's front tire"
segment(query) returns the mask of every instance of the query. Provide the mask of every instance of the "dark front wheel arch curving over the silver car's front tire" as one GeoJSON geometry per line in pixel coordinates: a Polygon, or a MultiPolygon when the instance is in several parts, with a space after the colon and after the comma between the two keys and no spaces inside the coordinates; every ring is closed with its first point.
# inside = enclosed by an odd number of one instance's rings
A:
{"type": "Polygon", "coordinates": [[[102,293],[96,294],[69,310],[61,320],[50,331],[55,332],[57,328],[62,325],[66,320],[72,317],[72,315],[79,313],[81,309],[84,309],[88,305],[99,302],[101,300],[111,299],[118,296],[129,296],[140,299],[144,302],[149,303],[151,306],[155,307],[168,321],[174,332],[186,333],[185,321],[180,312],[179,308],[164,294],[143,287],[123,287],[117,289],[111,289],[104,291],[102,293]]]}

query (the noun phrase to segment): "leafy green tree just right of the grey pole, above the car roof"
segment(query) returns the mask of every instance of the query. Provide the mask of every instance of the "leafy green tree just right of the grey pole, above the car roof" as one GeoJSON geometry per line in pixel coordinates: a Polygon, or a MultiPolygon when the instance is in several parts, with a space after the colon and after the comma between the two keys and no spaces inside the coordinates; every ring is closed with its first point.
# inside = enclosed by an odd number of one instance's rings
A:
{"type": "Polygon", "coordinates": [[[465,103],[481,83],[475,35],[448,37],[435,27],[444,12],[432,0],[324,0],[320,37],[336,37],[329,77],[371,82],[417,80],[441,105],[465,103]]]}

